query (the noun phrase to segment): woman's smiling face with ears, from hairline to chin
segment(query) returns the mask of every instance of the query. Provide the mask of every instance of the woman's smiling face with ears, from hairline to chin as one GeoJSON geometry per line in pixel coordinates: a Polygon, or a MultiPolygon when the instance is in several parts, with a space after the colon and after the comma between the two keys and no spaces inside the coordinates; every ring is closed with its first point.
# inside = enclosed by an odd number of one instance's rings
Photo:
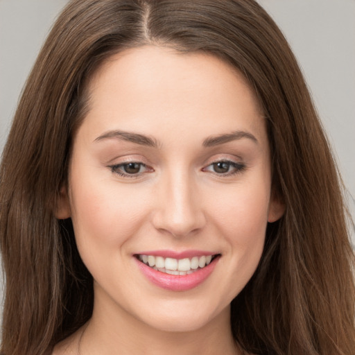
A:
{"type": "Polygon", "coordinates": [[[171,331],[229,319],[282,214],[250,87],[213,56],[145,46],[107,60],[89,94],[58,218],[94,277],[94,315],[171,331]]]}

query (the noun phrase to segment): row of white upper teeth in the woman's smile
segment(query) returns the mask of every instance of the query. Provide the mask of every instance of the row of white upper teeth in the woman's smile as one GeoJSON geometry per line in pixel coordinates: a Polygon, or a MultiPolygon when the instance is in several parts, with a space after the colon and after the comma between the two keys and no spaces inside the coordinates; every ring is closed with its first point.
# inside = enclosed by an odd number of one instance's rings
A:
{"type": "Polygon", "coordinates": [[[191,259],[173,259],[154,257],[153,255],[139,255],[139,260],[143,261],[151,268],[165,268],[167,270],[189,271],[196,270],[198,267],[204,268],[211,262],[212,255],[193,257],[191,259]]]}

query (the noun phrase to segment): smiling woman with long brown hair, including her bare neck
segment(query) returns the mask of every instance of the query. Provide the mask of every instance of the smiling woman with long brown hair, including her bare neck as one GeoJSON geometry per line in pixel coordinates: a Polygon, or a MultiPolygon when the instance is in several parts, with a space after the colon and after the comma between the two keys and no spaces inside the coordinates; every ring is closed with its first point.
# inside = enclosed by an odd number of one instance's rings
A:
{"type": "Polygon", "coordinates": [[[254,1],[71,1],[0,176],[3,354],[355,348],[334,160],[254,1]]]}

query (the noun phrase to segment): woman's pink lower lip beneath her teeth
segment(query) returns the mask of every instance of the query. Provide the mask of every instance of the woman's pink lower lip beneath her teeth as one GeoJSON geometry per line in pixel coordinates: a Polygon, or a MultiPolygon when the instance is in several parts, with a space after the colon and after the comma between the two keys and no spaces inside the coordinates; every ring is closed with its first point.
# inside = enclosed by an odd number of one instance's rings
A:
{"type": "Polygon", "coordinates": [[[204,282],[207,277],[211,275],[211,272],[214,270],[219,259],[220,257],[216,257],[211,261],[211,263],[209,263],[209,265],[205,266],[205,268],[198,269],[189,275],[170,275],[166,274],[166,272],[150,268],[145,263],[142,263],[135,258],[139,269],[150,280],[150,282],[153,282],[156,286],[170,291],[188,291],[202,284],[202,282],[204,282]]]}

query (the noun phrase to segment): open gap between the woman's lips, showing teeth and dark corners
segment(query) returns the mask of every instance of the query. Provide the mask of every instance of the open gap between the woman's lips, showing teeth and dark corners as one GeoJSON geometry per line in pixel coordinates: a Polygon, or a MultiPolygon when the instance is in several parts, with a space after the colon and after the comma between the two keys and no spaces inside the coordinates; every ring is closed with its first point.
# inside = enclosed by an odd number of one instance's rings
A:
{"type": "Polygon", "coordinates": [[[184,259],[173,259],[155,257],[153,255],[135,255],[135,257],[142,263],[146,264],[146,266],[170,275],[190,275],[193,272],[205,268],[218,256],[220,256],[220,254],[202,255],[201,257],[184,259]]]}

